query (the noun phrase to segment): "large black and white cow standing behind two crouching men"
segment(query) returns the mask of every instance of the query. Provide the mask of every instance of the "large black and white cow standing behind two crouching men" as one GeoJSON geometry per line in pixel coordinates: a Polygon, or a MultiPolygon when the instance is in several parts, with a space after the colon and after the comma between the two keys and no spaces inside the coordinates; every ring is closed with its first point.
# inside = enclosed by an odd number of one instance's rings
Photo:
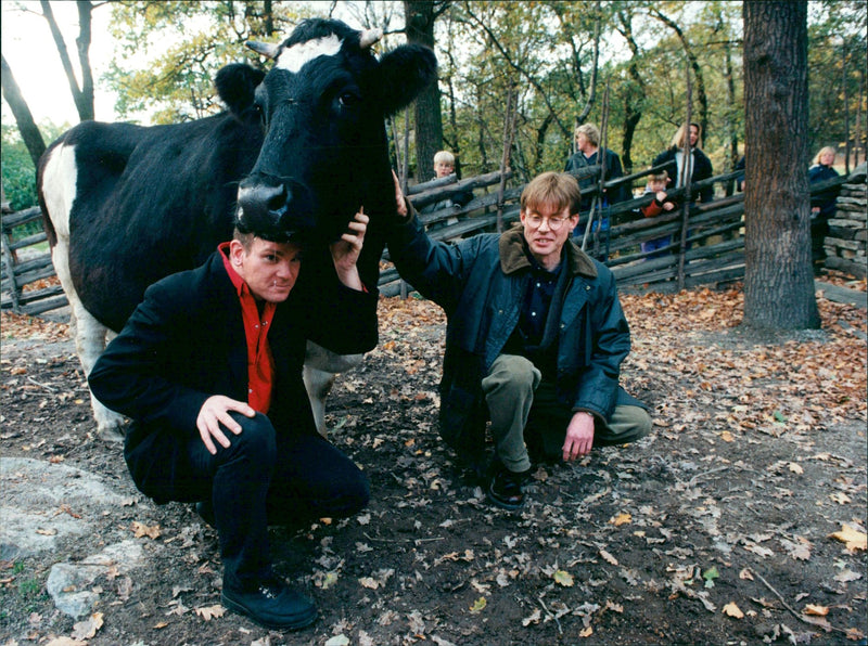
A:
{"type": "MultiPolygon", "coordinates": [[[[384,118],[436,78],[433,52],[419,46],[378,60],[381,35],[305,21],[281,44],[247,43],[273,60],[267,74],[219,70],[226,113],[171,126],[86,121],[51,145],[39,198],[86,374],[145,288],[203,262],[231,237],[237,212],[308,235],[296,288],[316,290],[334,271],[327,243],[363,206],[371,220],[359,270],[376,284],[384,222],[395,215],[384,118]]],[[[305,384],[320,432],[333,373],[359,360],[309,344],[305,384]]],[[[99,434],[119,437],[120,416],[91,404],[99,434]]]]}

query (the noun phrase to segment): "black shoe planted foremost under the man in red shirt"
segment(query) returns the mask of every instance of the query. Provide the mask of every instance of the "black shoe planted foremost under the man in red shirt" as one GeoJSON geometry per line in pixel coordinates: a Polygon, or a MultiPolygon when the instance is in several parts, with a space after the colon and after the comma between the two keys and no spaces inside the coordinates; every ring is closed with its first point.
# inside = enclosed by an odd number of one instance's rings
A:
{"type": "Polygon", "coordinates": [[[310,625],[317,618],[314,602],[277,579],[260,583],[253,592],[224,587],[220,602],[259,625],[276,630],[298,630],[310,625]]]}

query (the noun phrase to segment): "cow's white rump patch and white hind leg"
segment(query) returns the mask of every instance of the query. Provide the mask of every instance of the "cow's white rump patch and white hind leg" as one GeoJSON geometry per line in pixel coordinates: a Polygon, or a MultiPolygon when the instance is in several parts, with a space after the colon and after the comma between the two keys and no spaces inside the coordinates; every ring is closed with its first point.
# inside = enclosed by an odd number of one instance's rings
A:
{"type": "MultiPolygon", "coordinates": [[[[75,338],[78,360],[87,376],[105,349],[107,330],[85,309],[69,272],[69,211],[75,198],[75,151],[71,146],[60,145],[54,148],[46,164],[42,195],[58,236],[58,242],[51,249],[51,262],[69,301],[69,331],[75,338]]],[[[106,409],[93,395],[90,396],[90,405],[97,419],[97,435],[104,440],[123,440],[120,428],[124,416],[106,409]]]]}

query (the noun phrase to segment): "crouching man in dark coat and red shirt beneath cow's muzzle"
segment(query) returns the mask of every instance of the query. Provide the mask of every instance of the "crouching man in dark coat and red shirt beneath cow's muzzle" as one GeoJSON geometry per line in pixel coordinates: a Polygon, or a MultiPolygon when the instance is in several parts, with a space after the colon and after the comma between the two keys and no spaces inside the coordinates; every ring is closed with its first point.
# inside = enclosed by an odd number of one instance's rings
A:
{"type": "Polygon", "coordinates": [[[222,605],[267,628],[317,617],[272,571],[268,526],[345,517],[369,498],[362,471],[317,432],[302,380],[307,339],[339,353],[376,344],[375,289],[356,268],[366,228],[357,215],[331,245],[333,280],[310,296],[294,289],[295,237],[239,222],[204,264],[148,288],[89,376],[132,421],[136,486],[157,504],[197,503],[219,538],[222,605]]]}

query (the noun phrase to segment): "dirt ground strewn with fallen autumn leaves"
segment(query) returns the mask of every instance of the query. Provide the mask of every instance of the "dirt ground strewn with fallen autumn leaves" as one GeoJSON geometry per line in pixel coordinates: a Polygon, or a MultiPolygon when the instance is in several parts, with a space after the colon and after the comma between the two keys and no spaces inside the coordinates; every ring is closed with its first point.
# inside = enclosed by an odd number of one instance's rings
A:
{"type": "Polygon", "coordinates": [[[272,529],[278,570],[321,610],[297,633],[222,612],[215,532],[137,494],[120,448],[95,438],[65,326],[4,315],[2,454],[93,471],[133,504],[0,563],[0,644],[865,644],[866,311],[820,298],[821,331],[768,337],[737,326],[738,288],[622,300],[623,383],[654,432],[539,467],[520,513],[492,507],[437,437],[439,310],[381,302],[380,346],[328,417],[371,504],[272,529]],[[95,582],[101,624],[82,635],[48,572],[133,522],[158,526],[137,539],[158,557],[95,582]]]}

